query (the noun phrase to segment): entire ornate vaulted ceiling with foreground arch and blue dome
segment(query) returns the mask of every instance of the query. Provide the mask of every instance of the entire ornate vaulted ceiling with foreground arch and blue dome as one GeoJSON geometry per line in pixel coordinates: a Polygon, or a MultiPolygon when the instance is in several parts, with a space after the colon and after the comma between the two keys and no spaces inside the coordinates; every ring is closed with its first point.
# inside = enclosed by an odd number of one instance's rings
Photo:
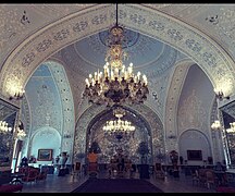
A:
{"type": "MultiPolygon", "coordinates": [[[[147,74],[147,105],[157,103],[160,118],[172,72],[184,61],[197,63],[214,88],[226,83],[225,94],[234,94],[234,4],[120,4],[119,21],[128,36],[126,63],[132,61],[134,70],[147,74]]],[[[2,96],[8,97],[9,84],[25,86],[49,59],[64,65],[74,105],[86,108],[81,99],[84,79],[104,64],[104,40],[114,12],[115,5],[108,3],[1,4],[2,96]]]]}

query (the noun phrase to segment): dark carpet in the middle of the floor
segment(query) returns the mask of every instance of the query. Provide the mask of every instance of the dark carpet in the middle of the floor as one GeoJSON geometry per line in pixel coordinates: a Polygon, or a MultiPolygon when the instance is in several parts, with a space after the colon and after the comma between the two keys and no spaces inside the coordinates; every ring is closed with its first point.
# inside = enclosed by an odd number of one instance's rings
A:
{"type": "Polygon", "coordinates": [[[72,193],[163,193],[139,179],[88,179],[72,193]]]}

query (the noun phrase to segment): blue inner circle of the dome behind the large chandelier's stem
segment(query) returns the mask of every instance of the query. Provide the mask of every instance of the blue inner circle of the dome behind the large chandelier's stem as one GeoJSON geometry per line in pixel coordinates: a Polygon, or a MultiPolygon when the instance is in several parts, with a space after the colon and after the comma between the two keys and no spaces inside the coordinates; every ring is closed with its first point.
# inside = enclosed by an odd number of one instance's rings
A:
{"type": "MultiPolygon", "coordinates": [[[[135,68],[138,69],[139,66],[149,64],[149,62],[157,61],[163,52],[164,45],[156,39],[127,29],[125,37],[127,47],[123,45],[123,48],[128,56],[125,61],[126,65],[133,62],[135,68]]],[[[107,39],[108,32],[106,30],[76,42],[74,47],[82,59],[101,69],[106,63],[107,39]]]]}

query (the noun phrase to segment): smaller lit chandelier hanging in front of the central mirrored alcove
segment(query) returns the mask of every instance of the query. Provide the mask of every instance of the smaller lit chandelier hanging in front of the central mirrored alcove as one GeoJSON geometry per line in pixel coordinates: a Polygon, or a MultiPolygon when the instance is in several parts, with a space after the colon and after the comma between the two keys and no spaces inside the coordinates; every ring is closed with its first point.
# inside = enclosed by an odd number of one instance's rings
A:
{"type": "Polygon", "coordinates": [[[107,121],[103,126],[106,138],[110,142],[127,142],[134,137],[135,126],[129,121],[121,120],[125,115],[125,110],[115,108],[113,115],[118,119],[107,121]]]}

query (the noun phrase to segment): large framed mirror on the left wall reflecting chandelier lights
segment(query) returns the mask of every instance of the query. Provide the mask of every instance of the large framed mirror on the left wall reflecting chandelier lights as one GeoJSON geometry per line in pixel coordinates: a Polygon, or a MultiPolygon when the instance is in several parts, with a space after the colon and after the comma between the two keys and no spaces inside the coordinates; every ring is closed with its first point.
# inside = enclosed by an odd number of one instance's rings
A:
{"type": "Polygon", "coordinates": [[[0,169],[11,168],[18,108],[0,98],[0,169]]]}

